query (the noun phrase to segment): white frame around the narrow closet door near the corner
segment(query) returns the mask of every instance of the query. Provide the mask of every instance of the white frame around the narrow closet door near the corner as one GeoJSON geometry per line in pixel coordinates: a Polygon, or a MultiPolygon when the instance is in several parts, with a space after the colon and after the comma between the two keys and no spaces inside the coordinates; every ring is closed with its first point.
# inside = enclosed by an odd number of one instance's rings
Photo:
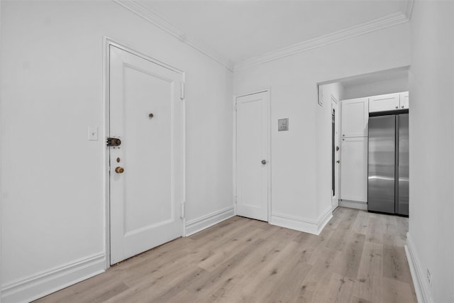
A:
{"type": "Polygon", "coordinates": [[[267,127],[267,136],[268,136],[268,158],[267,159],[267,173],[268,173],[268,189],[267,189],[267,194],[268,194],[268,223],[271,221],[271,210],[272,210],[272,205],[271,205],[271,165],[272,165],[272,155],[271,155],[271,89],[270,87],[265,87],[262,89],[257,89],[254,91],[250,92],[245,92],[241,94],[236,94],[235,97],[233,97],[233,209],[235,211],[236,215],[236,202],[237,202],[237,197],[238,197],[238,192],[236,188],[236,165],[237,165],[237,156],[236,156],[236,131],[237,131],[237,125],[236,125],[236,99],[239,97],[244,97],[248,96],[250,94],[258,94],[261,92],[266,92],[268,94],[267,98],[267,108],[268,108],[268,127],[267,127]]]}

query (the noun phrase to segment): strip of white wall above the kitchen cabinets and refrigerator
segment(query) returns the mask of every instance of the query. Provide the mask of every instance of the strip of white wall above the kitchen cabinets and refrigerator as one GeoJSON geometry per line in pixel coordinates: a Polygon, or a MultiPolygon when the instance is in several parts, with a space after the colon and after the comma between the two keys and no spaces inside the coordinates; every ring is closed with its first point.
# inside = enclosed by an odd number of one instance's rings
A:
{"type": "Polygon", "coordinates": [[[344,99],[392,94],[394,92],[408,92],[409,78],[399,77],[367,84],[345,85],[344,99]]]}

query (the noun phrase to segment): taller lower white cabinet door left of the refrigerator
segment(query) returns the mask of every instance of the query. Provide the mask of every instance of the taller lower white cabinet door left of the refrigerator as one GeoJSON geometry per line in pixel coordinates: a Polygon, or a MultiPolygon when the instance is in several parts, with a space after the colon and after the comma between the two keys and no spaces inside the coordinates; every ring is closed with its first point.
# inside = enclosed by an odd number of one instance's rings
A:
{"type": "Polygon", "coordinates": [[[342,138],[341,199],[367,202],[367,137],[342,138]]]}

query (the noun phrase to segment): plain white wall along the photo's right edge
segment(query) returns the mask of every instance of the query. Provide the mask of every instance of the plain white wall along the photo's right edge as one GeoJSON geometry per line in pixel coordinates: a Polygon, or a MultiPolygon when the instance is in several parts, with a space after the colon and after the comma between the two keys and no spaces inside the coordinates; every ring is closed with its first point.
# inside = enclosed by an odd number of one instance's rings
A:
{"type": "Polygon", "coordinates": [[[453,15],[452,1],[415,1],[411,18],[408,256],[421,302],[454,302],[453,15]]]}

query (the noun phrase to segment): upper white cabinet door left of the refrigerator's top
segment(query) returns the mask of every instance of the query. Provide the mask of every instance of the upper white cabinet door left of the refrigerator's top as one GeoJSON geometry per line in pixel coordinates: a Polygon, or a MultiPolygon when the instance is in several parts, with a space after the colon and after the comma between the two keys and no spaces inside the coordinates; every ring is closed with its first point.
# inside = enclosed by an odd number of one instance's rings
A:
{"type": "Polygon", "coordinates": [[[341,113],[342,137],[366,137],[369,120],[367,98],[343,100],[341,113]]]}

